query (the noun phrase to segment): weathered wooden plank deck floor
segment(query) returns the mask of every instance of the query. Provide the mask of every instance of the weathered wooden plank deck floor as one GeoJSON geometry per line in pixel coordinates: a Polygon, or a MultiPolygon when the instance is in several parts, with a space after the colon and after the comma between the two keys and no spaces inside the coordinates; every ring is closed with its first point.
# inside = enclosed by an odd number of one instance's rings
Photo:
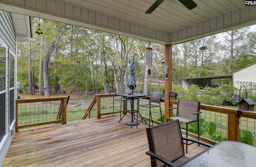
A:
{"type": "MultiPolygon", "coordinates": [[[[81,120],[43,128],[22,130],[14,136],[3,166],[150,167],[146,128],[132,129],[125,116],[81,120]]],[[[189,145],[192,157],[206,147],[189,145]]]]}

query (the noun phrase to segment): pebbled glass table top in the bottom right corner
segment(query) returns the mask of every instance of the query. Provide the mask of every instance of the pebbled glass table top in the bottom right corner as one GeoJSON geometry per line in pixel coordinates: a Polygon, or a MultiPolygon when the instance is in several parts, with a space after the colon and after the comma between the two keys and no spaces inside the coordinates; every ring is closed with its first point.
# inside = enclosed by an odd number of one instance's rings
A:
{"type": "Polygon", "coordinates": [[[182,166],[255,167],[256,147],[238,141],[221,141],[182,166]]]}

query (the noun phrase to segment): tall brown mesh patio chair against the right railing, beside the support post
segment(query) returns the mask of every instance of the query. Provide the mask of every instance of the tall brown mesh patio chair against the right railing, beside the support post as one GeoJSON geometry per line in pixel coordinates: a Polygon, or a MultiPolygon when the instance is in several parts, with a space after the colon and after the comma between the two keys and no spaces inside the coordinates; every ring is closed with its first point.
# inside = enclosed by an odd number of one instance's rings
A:
{"type": "MultiPolygon", "coordinates": [[[[186,138],[188,137],[188,124],[197,122],[198,140],[200,140],[199,114],[202,113],[200,112],[200,102],[179,99],[177,107],[169,108],[169,110],[172,110],[174,108],[177,109],[177,114],[176,116],[167,118],[167,122],[169,119],[172,119],[186,123],[186,138]]],[[[190,144],[192,143],[188,143],[188,141],[186,141],[187,146],[190,144]]],[[[186,153],[187,152],[188,147],[186,147],[186,153]]]]}

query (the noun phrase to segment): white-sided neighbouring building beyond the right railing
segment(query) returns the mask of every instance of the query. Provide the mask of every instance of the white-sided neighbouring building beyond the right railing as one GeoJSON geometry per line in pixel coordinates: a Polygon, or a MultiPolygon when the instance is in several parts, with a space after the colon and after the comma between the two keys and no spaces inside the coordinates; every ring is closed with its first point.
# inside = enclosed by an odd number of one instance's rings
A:
{"type": "Polygon", "coordinates": [[[256,63],[235,71],[233,73],[233,84],[238,89],[240,89],[241,86],[246,86],[246,88],[255,88],[256,63]]]}

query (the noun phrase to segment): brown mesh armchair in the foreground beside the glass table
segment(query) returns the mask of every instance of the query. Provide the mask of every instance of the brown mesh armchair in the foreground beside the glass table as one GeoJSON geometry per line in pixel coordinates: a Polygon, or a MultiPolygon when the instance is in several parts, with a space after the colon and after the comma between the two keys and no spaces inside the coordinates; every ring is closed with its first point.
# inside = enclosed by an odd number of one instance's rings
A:
{"type": "Polygon", "coordinates": [[[182,138],[179,120],[146,128],[146,132],[149,145],[146,154],[150,155],[152,167],[178,166],[190,159],[184,154],[183,140],[200,143],[206,147],[212,146],[196,139],[182,138]]]}

